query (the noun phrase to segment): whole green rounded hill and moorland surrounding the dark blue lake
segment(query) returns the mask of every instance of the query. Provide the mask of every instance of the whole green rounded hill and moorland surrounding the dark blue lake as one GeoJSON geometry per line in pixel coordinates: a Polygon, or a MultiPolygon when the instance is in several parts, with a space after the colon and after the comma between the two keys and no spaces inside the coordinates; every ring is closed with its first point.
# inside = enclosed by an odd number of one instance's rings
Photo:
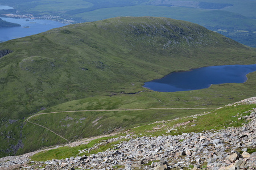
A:
{"type": "Polygon", "coordinates": [[[196,91],[143,88],[173,71],[255,63],[255,48],[181,20],[67,25],[3,42],[0,52],[0,156],[209,112],[256,92],[256,73],[196,91]]]}

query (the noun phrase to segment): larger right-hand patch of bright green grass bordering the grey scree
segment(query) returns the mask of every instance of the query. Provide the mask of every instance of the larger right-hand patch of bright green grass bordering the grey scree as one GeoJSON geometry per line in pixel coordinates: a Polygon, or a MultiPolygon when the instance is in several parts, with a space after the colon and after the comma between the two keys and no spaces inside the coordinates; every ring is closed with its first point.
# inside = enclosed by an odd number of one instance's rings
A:
{"type": "Polygon", "coordinates": [[[242,124],[246,123],[246,121],[238,120],[238,117],[250,114],[245,112],[250,111],[254,107],[255,104],[238,105],[237,107],[224,107],[214,110],[210,112],[210,114],[206,114],[204,116],[196,116],[196,118],[180,118],[178,120],[167,121],[164,123],[158,122],[155,124],[139,126],[138,128],[134,128],[129,132],[134,134],[158,136],[161,134],[167,134],[167,130],[171,128],[176,128],[177,130],[170,131],[168,135],[177,135],[191,132],[200,133],[201,131],[206,130],[220,130],[228,127],[240,127],[242,124]],[[196,124],[196,126],[191,126],[193,124],[196,124]]]}

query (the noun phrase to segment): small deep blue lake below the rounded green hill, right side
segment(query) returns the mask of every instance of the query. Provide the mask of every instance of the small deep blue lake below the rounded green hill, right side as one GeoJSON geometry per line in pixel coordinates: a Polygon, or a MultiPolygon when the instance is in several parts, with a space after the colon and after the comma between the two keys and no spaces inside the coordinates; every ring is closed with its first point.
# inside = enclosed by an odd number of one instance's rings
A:
{"type": "Polygon", "coordinates": [[[144,83],[145,88],[159,92],[189,91],[209,88],[212,84],[244,83],[246,75],[256,71],[254,65],[225,65],[174,72],[162,79],[144,83]]]}

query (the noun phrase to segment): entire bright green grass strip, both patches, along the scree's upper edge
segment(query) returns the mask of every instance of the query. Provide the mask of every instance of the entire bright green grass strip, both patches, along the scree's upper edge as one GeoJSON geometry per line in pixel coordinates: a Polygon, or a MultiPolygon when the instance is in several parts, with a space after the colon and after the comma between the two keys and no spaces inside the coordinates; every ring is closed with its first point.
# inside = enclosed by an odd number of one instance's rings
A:
{"type": "MultiPolygon", "coordinates": [[[[245,120],[238,120],[239,117],[249,115],[251,109],[255,108],[256,104],[251,105],[232,105],[229,107],[224,107],[221,109],[216,109],[209,114],[203,116],[196,117],[187,117],[180,118],[178,120],[166,121],[166,122],[156,122],[150,125],[142,125],[137,128],[126,129],[125,134],[133,134],[136,136],[158,136],[158,135],[177,135],[182,133],[200,133],[206,130],[220,130],[228,127],[240,127],[242,124],[247,123],[245,120]],[[214,120],[214,121],[209,121],[214,120]],[[196,126],[191,126],[196,124],[196,126]],[[177,130],[172,130],[170,133],[167,133],[168,129],[176,128],[177,130]]],[[[121,133],[120,135],[123,135],[121,133]]],[[[118,137],[115,136],[115,137],[118,137]]],[[[32,160],[35,161],[46,161],[52,159],[65,159],[70,158],[71,156],[77,155],[90,155],[96,154],[98,152],[102,152],[107,150],[108,148],[114,148],[115,145],[121,143],[123,139],[119,139],[118,141],[105,144],[104,141],[106,139],[110,139],[114,137],[108,138],[100,138],[95,139],[88,143],[88,145],[80,145],[77,147],[59,147],[53,150],[39,152],[31,157],[32,160]],[[80,150],[85,150],[93,147],[94,145],[102,143],[98,145],[96,149],[91,150],[90,152],[79,154],[80,150]]],[[[248,152],[255,152],[255,148],[249,148],[248,152]]],[[[151,162],[150,162],[151,164],[151,162]]]]}

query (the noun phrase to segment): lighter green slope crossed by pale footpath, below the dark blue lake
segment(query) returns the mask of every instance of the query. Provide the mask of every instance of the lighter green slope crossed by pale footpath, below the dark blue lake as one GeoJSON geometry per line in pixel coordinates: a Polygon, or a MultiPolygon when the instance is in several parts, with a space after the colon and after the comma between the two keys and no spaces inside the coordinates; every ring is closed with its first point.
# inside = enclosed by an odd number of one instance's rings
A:
{"type": "MultiPolygon", "coordinates": [[[[145,122],[170,120],[177,117],[189,116],[212,111],[233,101],[244,99],[245,96],[255,96],[256,73],[249,75],[249,80],[243,84],[214,85],[208,89],[187,92],[142,92],[135,95],[95,96],[57,105],[30,119],[40,125],[55,131],[70,141],[91,135],[109,133],[120,127],[130,128],[143,125],[145,122]],[[227,90],[228,89],[228,90],[227,90]],[[65,112],[102,109],[144,109],[144,108],[204,108],[204,109],[152,109],[143,111],[109,111],[109,112],[65,112]],[[93,122],[100,118],[100,120],[93,122]],[[92,123],[93,122],[93,123],[92,123]]],[[[32,133],[30,124],[24,127],[27,133],[32,133]]],[[[41,134],[29,137],[42,138],[41,134]]],[[[48,134],[56,139],[56,135],[48,134]]],[[[28,138],[28,137],[27,137],[28,138]]],[[[59,137],[57,137],[59,138],[59,137]]],[[[60,139],[60,138],[59,138],[60,139]]],[[[28,140],[30,141],[30,140],[28,140]]],[[[40,143],[38,147],[45,147],[47,143],[40,143]]],[[[30,148],[24,147],[24,150],[30,148]]],[[[20,150],[23,151],[23,150],[20,150]]]]}

